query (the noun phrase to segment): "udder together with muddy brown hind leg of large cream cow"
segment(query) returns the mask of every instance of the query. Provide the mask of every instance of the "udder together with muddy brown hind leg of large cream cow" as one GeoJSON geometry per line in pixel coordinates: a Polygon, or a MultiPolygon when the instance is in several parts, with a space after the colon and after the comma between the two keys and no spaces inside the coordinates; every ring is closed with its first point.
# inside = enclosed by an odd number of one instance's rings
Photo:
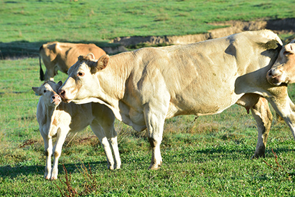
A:
{"type": "Polygon", "coordinates": [[[258,139],[255,154],[252,159],[265,157],[265,148],[269,130],[271,129],[271,121],[273,116],[269,109],[269,103],[264,97],[256,94],[246,94],[237,102],[237,104],[249,109],[256,120],[258,129],[258,139]]]}

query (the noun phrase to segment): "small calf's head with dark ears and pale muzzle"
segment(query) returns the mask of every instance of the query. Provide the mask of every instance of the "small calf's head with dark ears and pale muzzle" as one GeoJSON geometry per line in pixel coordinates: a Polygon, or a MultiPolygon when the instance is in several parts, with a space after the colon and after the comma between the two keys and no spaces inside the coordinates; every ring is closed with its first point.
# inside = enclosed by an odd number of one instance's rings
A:
{"type": "Polygon", "coordinates": [[[54,81],[47,81],[40,87],[32,87],[35,95],[43,97],[43,101],[47,107],[57,107],[61,103],[61,97],[57,94],[58,88],[63,84],[59,81],[56,84],[54,81]]]}

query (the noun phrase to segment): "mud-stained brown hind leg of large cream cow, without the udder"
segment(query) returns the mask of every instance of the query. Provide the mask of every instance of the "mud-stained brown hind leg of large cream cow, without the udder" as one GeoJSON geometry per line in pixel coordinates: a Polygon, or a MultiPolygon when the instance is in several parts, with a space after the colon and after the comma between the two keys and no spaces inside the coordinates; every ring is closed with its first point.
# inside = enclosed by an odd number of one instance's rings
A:
{"type": "Polygon", "coordinates": [[[271,120],[273,119],[271,110],[269,109],[269,102],[264,97],[260,97],[258,102],[250,109],[256,120],[258,129],[258,140],[252,159],[265,157],[266,141],[269,136],[269,130],[271,129],[271,120]]]}

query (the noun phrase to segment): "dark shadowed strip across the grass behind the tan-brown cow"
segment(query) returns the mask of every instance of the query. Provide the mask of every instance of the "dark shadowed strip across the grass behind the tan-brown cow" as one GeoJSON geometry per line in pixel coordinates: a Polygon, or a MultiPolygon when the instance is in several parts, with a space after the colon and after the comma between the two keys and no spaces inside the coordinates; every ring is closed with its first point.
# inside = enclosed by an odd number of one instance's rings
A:
{"type": "MultiPolygon", "coordinates": [[[[73,42],[70,40],[59,40],[60,42],[72,42],[72,43],[93,43],[98,47],[101,47],[107,54],[117,54],[125,50],[124,47],[115,43],[109,42],[95,42],[95,41],[78,41],[73,42]]],[[[0,42],[0,59],[7,58],[35,58],[39,56],[39,49],[41,45],[49,41],[41,42],[28,42],[25,40],[14,42],[0,42]]]]}

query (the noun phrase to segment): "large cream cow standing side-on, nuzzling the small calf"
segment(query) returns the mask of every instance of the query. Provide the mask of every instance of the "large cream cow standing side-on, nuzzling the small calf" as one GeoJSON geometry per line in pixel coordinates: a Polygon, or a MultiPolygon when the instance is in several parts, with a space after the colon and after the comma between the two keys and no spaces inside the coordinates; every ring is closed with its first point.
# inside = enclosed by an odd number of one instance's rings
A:
{"type": "Polygon", "coordinates": [[[258,128],[255,157],[263,157],[272,115],[267,100],[294,133],[287,86],[266,72],[282,42],[272,31],[247,31],[191,45],[143,48],[115,56],[80,56],[58,90],[65,102],[101,102],[136,131],[148,129],[151,169],[162,163],[164,121],[179,115],[221,113],[232,104],[251,111],[258,128]]]}

